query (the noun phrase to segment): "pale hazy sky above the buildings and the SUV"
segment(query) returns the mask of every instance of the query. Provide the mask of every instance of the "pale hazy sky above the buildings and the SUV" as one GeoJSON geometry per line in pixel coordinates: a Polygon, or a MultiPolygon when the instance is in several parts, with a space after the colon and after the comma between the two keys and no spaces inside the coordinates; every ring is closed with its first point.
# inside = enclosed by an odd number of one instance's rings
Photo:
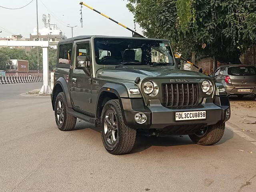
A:
{"type": "MultiPolygon", "coordinates": [[[[0,0],[0,6],[19,8],[28,4],[31,0],[0,0]]],[[[73,35],[109,35],[109,36],[132,36],[132,32],[108,20],[100,14],[83,6],[83,28],[80,25],[80,0],[38,0],[38,25],[43,28],[42,14],[51,15],[51,24],[57,24],[60,30],[71,37],[71,28],[67,24],[76,26],[73,35]]],[[[84,3],[94,9],[108,15],[118,22],[134,29],[134,17],[128,8],[127,0],[84,0],[84,3]]],[[[8,10],[0,7],[0,37],[12,34],[22,34],[29,38],[30,33],[36,27],[36,0],[25,8],[8,10]]],[[[136,26],[137,32],[142,33],[136,26]]]]}

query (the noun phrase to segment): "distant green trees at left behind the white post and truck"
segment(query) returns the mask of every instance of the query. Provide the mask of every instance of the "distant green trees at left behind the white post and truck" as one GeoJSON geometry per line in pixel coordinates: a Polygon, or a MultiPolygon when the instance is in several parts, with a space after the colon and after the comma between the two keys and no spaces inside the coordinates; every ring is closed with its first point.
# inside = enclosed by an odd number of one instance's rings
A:
{"type": "MultiPolygon", "coordinates": [[[[54,70],[56,66],[57,50],[49,48],[49,70],[54,70]]],[[[1,48],[0,49],[0,70],[5,70],[5,65],[10,59],[28,60],[29,70],[37,70],[37,48],[32,48],[29,52],[20,49],[1,48]]],[[[42,70],[42,48],[39,48],[39,70],[42,70]]]]}

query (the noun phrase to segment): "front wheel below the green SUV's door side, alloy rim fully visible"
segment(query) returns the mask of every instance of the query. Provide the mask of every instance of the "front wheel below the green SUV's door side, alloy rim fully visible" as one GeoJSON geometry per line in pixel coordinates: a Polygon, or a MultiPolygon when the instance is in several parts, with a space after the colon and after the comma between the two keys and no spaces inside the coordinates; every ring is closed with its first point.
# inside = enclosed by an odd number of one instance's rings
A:
{"type": "Polygon", "coordinates": [[[108,101],[101,115],[101,138],[106,150],[114,155],[127,154],[134,147],[136,129],[124,124],[118,100],[108,101]]]}

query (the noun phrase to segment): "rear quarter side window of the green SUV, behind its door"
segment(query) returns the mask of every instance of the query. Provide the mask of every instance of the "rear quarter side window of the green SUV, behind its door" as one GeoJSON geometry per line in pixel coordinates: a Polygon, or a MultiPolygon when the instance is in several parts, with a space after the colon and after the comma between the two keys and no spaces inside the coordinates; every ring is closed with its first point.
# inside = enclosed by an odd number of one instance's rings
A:
{"type": "Polygon", "coordinates": [[[70,64],[73,44],[60,45],[59,64],[70,64]]]}

